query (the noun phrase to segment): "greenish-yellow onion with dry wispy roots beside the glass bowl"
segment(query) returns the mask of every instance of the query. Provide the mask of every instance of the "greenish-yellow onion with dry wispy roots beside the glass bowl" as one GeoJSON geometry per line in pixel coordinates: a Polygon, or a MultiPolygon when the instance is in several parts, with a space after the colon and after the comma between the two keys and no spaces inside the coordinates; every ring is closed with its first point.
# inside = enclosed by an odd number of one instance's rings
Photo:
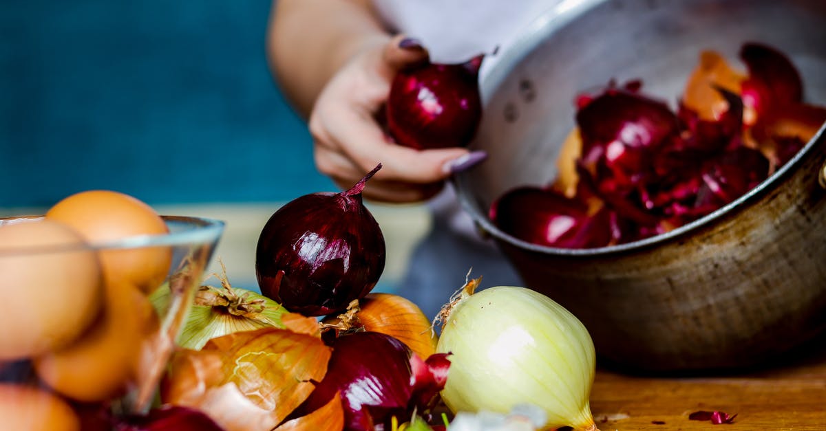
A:
{"type": "MultiPolygon", "coordinates": [[[[221,263],[221,268],[224,268],[221,263]]],[[[212,274],[221,281],[221,287],[198,287],[194,303],[178,336],[178,345],[198,350],[210,339],[240,331],[261,328],[283,328],[281,317],[287,310],[278,302],[239,287],[232,287],[223,275],[212,274]]],[[[171,291],[168,284],[150,296],[159,312],[168,306],[171,291]]]]}

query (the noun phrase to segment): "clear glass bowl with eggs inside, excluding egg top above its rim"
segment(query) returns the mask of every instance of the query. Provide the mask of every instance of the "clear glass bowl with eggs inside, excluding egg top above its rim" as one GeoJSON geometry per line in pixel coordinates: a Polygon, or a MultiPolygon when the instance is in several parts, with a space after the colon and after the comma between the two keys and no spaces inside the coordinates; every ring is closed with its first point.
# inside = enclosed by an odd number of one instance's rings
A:
{"type": "MultiPolygon", "coordinates": [[[[2,218],[0,229],[41,219],[2,218]]],[[[17,418],[12,424],[28,427],[42,419],[63,426],[77,419],[87,429],[94,428],[89,420],[102,415],[150,409],[194,291],[224,231],[221,220],[163,219],[168,234],[105,244],[0,244],[5,274],[0,292],[22,297],[11,303],[24,304],[0,311],[0,326],[19,334],[7,332],[0,343],[0,411],[17,418]],[[160,258],[162,267],[140,287],[116,281],[103,263],[117,259],[118,269],[145,272],[147,256],[160,258]],[[172,299],[156,310],[149,295],[162,286],[171,288],[172,299]]]]}

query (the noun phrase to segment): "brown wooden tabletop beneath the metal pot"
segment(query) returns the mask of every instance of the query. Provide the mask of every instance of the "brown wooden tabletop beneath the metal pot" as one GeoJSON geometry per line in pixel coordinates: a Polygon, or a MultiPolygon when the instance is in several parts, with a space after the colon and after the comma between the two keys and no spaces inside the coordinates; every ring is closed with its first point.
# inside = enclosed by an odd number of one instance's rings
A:
{"type": "Polygon", "coordinates": [[[742,374],[640,377],[600,370],[591,391],[591,411],[601,431],[824,431],[826,348],[821,349],[796,361],[742,374]],[[689,420],[688,415],[698,410],[720,410],[737,417],[732,424],[689,420]]]}

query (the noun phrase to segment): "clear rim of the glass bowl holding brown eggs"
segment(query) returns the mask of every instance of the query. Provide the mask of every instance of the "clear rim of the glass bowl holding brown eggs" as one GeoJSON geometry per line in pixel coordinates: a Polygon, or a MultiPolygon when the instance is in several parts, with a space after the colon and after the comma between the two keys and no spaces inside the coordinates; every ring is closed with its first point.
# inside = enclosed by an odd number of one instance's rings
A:
{"type": "MultiPolygon", "coordinates": [[[[168,227],[176,226],[167,234],[143,234],[121,239],[81,244],[55,244],[6,248],[0,245],[0,257],[26,253],[58,253],[78,250],[140,249],[145,247],[206,244],[221,239],[225,221],[192,215],[160,215],[168,227]]],[[[0,217],[0,226],[45,219],[45,215],[15,215],[0,217]]]]}

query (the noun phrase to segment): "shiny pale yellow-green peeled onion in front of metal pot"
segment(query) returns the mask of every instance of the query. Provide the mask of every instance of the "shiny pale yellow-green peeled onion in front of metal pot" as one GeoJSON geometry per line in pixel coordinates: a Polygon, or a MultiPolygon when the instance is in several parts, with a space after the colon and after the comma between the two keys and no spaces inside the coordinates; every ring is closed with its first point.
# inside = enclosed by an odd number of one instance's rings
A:
{"type": "Polygon", "coordinates": [[[437,351],[451,353],[441,395],[453,412],[534,404],[548,414],[547,428],[596,429],[591,335],[548,296],[490,287],[463,297],[444,318],[437,351]]]}

